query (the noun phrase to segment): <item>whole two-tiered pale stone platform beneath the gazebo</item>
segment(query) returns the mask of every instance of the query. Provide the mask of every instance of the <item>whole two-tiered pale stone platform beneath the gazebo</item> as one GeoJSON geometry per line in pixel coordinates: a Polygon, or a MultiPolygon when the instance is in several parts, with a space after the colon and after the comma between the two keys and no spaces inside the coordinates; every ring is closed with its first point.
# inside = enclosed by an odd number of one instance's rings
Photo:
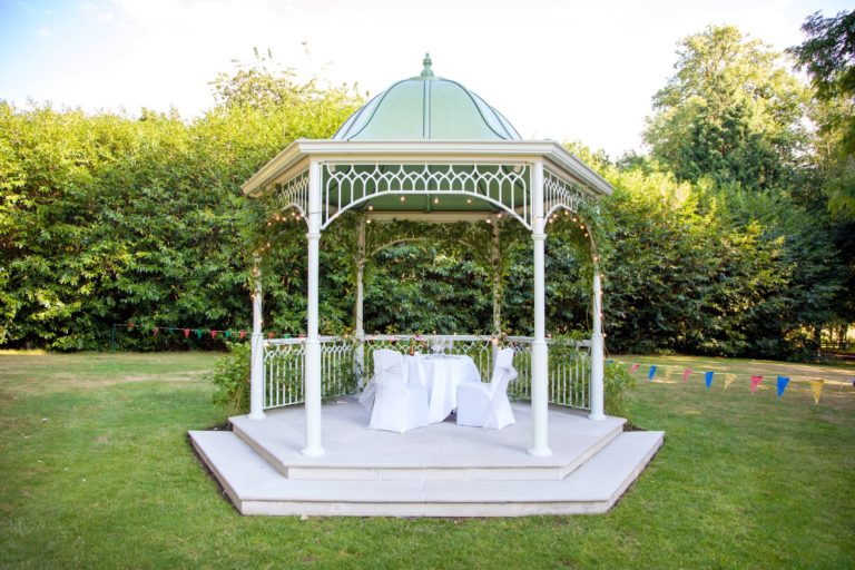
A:
{"type": "Polygon", "coordinates": [[[443,423],[404,434],[368,430],[354,400],[323,409],[326,453],[307,458],[302,407],[264,420],[232,417],[232,432],[190,432],[199,455],[243,514],[517,517],[608,511],[661,446],[662,432],[623,432],[553,407],[552,455],[527,453],[531,410],[501,431],[443,423]]]}

